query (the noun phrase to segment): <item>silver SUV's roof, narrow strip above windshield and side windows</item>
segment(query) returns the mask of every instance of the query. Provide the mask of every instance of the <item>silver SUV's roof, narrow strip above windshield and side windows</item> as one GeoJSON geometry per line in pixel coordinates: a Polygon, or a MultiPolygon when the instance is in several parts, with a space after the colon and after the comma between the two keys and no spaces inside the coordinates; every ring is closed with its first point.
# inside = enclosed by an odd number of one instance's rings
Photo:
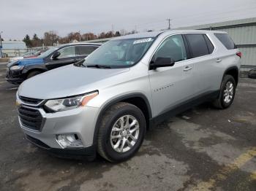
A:
{"type": "Polygon", "coordinates": [[[144,32],[138,34],[128,34],[126,36],[119,36],[115,39],[137,39],[137,38],[148,38],[148,37],[156,37],[159,34],[178,34],[178,33],[226,33],[224,31],[206,31],[206,30],[168,30],[168,31],[152,31],[152,32],[144,32]]]}

